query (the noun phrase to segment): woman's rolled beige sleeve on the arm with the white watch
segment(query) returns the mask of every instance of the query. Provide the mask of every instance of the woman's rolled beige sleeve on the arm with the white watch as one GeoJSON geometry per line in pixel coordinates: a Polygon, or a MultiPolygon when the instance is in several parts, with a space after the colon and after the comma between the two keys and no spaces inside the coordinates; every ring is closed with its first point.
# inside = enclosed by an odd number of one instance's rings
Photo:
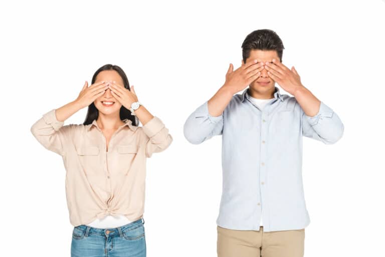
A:
{"type": "Polygon", "coordinates": [[[152,153],[161,152],[172,142],[172,137],[163,122],[156,116],[142,126],[146,141],[146,157],[151,157],[152,153]]]}

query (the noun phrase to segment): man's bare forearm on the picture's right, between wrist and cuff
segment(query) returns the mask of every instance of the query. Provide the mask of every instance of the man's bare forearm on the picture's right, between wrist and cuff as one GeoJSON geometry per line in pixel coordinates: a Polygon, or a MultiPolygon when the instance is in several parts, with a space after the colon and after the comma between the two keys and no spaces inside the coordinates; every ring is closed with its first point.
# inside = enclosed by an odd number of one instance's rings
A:
{"type": "Polygon", "coordinates": [[[318,113],[321,101],[310,90],[300,87],[295,91],[294,97],[307,116],[313,117],[318,113]]]}

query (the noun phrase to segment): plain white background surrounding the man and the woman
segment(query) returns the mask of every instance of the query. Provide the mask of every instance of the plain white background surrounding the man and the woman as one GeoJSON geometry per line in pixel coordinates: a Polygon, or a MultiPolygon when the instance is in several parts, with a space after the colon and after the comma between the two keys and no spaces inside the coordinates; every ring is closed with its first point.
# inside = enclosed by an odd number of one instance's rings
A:
{"type": "Polygon", "coordinates": [[[147,256],[216,256],[221,137],[191,145],[182,127],[229,63],[239,67],[257,29],[277,32],[283,63],[345,126],[334,145],[304,139],[305,256],[383,256],[383,1],[9,1],[0,10],[2,256],[70,255],[64,165],[30,128],[107,63],[174,139],[147,160],[147,256]]]}

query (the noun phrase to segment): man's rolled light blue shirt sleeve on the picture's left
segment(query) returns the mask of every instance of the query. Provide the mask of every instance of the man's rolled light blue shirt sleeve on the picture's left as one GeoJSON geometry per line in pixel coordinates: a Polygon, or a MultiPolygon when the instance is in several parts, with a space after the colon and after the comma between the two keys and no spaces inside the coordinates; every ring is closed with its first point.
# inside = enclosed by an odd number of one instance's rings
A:
{"type": "Polygon", "coordinates": [[[183,134],[191,144],[200,144],[223,130],[223,113],[220,116],[209,114],[208,101],[188,116],[183,126],[183,134]]]}

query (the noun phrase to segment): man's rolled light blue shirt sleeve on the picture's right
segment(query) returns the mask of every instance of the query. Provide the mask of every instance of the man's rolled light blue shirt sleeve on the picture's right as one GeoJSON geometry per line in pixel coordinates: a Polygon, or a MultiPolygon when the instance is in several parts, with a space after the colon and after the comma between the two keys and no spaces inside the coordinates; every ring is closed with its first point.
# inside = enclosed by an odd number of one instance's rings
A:
{"type": "Polygon", "coordinates": [[[307,116],[301,108],[302,134],[324,144],[334,144],[343,134],[344,126],[338,115],[321,102],[318,113],[307,116]]]}

